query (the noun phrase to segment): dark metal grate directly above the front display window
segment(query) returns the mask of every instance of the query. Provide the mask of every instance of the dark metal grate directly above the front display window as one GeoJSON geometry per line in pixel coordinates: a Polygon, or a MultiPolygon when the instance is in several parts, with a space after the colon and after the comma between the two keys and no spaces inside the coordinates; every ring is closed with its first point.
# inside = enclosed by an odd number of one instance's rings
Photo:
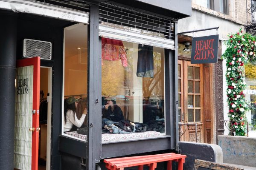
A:
{"type": "Polygon", "coordinates": [[[100,4],[99,23],[102,26],[123,31],[174,40],[174,22],[172,20],[110,3],[100,4]]]}

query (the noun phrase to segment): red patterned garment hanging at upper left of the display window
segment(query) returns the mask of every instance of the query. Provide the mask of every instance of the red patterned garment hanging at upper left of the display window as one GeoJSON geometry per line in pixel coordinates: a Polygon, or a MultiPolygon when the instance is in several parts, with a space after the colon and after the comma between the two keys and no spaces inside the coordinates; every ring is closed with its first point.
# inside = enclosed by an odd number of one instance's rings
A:
{"type": "Polygon", "coordinates": [[[120,40],[102,38],[102,59],[109,61],[116,61],[121,59],[122,66],[128,66],[125,48],[122,41],[120,40]]]}

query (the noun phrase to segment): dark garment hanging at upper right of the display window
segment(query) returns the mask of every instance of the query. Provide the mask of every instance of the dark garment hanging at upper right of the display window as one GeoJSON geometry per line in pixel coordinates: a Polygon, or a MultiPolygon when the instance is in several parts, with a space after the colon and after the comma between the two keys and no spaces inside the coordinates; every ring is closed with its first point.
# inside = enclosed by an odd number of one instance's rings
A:
{"type": "Polygon", "coordinates": [[[153,46],[139,44],[137,77],[154,77],[153,46]]]}

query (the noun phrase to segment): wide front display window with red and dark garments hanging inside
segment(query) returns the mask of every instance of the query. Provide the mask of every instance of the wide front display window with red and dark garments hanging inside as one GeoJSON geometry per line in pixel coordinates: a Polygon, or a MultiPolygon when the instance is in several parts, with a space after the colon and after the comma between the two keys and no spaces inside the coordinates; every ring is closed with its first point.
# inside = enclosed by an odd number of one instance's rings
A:
{"type": "Polygon", "coordinates": [[[165,134],[164,49],[102,37],[102,143],[165,134]]]}

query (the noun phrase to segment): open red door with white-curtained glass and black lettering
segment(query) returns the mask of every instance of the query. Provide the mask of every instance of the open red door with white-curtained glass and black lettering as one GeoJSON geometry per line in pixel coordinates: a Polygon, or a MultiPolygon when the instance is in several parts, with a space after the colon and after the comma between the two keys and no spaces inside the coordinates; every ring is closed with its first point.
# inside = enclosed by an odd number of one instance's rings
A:
{"type": "Polygon", "coordinates": [[[38,170],[40,57],[17,60],[14,167],[38,170]]]}

